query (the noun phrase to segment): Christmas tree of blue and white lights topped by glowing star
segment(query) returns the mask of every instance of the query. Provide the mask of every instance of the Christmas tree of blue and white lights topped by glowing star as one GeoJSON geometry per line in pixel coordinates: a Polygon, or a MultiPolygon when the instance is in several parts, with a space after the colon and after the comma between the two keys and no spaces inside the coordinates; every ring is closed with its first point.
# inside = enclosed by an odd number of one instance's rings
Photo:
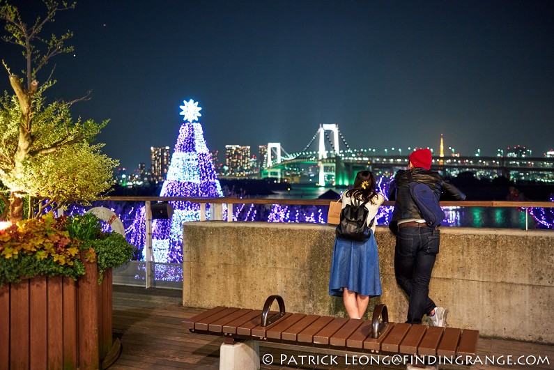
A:
{"type": "MultiPolygon", "coordinates": [[[[198,102],[183,101],[180,112],[184,116],[179,136],[171,156],[167,178],[160,196],[197,196],[215,198],[223,196],[220,181],[215,174],[210,151],[202,125],[198,102]]],[[[183,222],[198,221],[200,206],[189,201],[171,201],[174,207],[171,219],[155,219],[153,222],[153,253],[156,262],[183,262],[183,222]]],[[[209,210],[206,211],[209,214],[209,210]]]]}

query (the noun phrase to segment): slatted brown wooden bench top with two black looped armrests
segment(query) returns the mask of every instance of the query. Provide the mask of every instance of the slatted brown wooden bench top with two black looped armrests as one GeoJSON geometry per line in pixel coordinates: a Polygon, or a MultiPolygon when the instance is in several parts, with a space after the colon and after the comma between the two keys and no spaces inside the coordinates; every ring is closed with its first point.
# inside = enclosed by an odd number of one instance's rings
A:
{"type": "Polygon", "coordinates": [[[458,357],[463,362],[477,356],[479,340],[478,330],[389,322],[385,305],[374,308],[371,321],[291,314],[279,295],[270,296],[261,310],[218,306],[187,318],[183,325],[193,333],[220,335],[231,345],[254,339],[383,355],[458,357]],[[278,312],[270,311],[274,300],[278,312]]]}

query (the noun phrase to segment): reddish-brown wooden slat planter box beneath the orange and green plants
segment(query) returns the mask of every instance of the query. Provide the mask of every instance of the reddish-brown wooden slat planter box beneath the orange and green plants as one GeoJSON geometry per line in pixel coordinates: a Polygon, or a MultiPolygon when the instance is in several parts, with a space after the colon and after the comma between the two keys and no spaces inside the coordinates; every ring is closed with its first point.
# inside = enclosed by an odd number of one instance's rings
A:
{"type": "Polygon", "coordinates": [[[0,286],[0,369],[100,369],[112,346],[111,270],[77,282],[33,277],[0,286]]]}

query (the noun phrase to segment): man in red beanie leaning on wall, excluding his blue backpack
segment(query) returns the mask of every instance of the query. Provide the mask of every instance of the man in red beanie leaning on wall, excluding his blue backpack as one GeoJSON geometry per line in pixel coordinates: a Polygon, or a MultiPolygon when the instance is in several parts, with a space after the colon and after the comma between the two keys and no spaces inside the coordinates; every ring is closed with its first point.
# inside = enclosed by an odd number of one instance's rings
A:
{"type": "Polygon", "coordinates": [[[408,170],[399,170],[389,190],[389,200],[394,202],[394,212],[389,228],[396,235],[394,249],[394,275],[397,284],[408,296],[406,323],[421,324],[424,314],[429,315],[435,326],[447,325],[448,309],[438,307],[429,298],[429,282],[439,249],[440,230],[428,226],[411,194],[408,171],[416,183],[428,185],[437,199],[465,200],[465,194],[454,185],[431,171],[432,155],[429,149],[419,149],[410,154],[408,170]]]}

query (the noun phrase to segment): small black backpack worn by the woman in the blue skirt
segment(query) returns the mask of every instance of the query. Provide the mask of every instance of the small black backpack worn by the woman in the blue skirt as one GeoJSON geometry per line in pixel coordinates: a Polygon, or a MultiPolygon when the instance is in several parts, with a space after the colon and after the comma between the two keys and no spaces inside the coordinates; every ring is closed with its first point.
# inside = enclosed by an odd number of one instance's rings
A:
{"type": "Polygon", "coordinates": [[[375,217],[371,219],[371,223],[368,226],[367,214],[369,210],[365,208],[368,201],[364,201],[364,203],[361,203],[359,199],[353,199],[352,201],[353,204],[347,204],[342,208],[341,220],[337,225],[335,235],[339,238],[364,242],[371,236],[370,230],[374,224],[375,217]]]}

